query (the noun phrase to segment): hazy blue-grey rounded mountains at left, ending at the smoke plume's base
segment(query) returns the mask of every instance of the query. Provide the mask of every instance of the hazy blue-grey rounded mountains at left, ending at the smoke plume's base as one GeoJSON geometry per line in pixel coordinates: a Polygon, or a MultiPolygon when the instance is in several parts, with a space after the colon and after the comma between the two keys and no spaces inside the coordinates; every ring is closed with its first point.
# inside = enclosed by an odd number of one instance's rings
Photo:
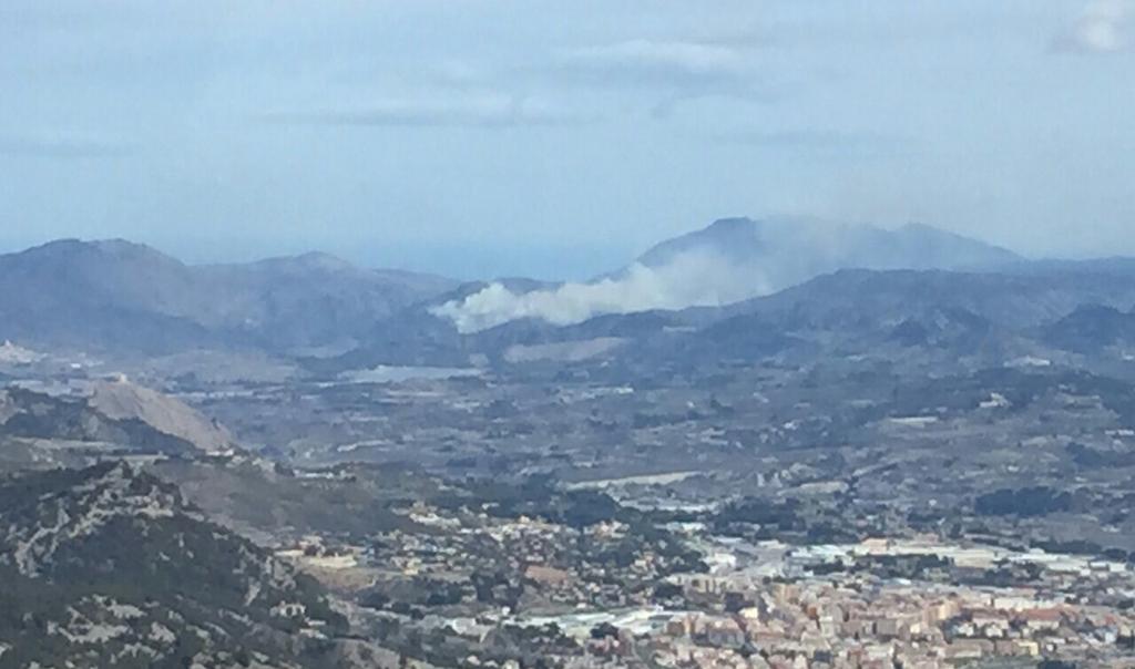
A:
{"type": "Polygon", "coordinates": [[[0,339],[111,353],[283,352],[351,341],[454,286],[325,254],[194,266],[129,242],[67,239],[0,255],[0,339]]]}

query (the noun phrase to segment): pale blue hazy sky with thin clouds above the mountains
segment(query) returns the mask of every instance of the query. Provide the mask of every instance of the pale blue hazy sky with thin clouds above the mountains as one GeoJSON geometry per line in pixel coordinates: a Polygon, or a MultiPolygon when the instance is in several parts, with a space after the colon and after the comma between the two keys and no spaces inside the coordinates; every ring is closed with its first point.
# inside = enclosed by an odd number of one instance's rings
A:
{"type": "Polygon", "coordinates": [[[1135,255],[1135,0],[0,2],[0,248],[586,277],[729,215],[1135,255]]]}

